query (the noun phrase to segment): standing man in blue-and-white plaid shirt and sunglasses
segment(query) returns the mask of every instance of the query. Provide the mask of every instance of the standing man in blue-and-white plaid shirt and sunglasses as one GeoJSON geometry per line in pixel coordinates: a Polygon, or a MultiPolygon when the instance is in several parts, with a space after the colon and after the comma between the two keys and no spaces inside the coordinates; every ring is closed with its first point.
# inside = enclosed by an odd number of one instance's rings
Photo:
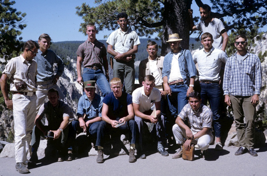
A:
{"type": "Polygon", "coordinates": [[[239,149],[235,155],[249,152],[258,156],[254,150],[256,104],[261,89],[261,63],[258,56],[247,52],[247,37],[236,36],[237,52],[228,58],[223,79],[225,103],[233,107],[239,149]],[[246,125],[244,124],[246,119],[246,125]]]}

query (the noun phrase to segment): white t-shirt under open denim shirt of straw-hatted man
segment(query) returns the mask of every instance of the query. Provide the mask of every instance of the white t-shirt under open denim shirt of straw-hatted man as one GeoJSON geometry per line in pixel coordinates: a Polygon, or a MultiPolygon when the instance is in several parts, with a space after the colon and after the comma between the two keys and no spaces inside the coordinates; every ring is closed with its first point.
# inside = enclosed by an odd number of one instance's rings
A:
{"type": "Polygon", "coordinates": [[[178,57],[181,54],[181,52],[182,51],[173,53],[169,82],[183,79],[181,72],[180,72],[179,62],[178,62],[178,57]]]}

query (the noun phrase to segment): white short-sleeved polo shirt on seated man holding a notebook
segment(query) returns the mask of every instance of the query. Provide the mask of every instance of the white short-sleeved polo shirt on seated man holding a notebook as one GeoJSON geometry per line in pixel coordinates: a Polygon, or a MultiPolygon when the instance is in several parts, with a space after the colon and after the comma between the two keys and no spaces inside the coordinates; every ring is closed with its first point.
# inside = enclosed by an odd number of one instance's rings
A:
{"type": "Polygon", "coordinates": [[[153,88],[150,95],[145,95],[144,86],[139,87],[133,92],[133,103],[139,104],[139,111],[148,111],[154,106],[155,102],[160,101],[160,91],[159,89],[153,88]]]}

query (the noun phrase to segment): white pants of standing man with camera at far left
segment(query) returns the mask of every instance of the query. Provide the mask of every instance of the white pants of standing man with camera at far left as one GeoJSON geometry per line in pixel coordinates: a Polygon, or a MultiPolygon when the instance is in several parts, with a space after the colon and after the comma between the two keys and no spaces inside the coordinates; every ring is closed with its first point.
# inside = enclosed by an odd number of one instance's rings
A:
{"type": "Polygon", "coordinates": [[[34,127],[36,99],[36,95],[14,94],[12,97],[16,163],[27,161],[27,153],[28,151],[31,152],[29,150],[31,142],[30,132],[34,127]]]}

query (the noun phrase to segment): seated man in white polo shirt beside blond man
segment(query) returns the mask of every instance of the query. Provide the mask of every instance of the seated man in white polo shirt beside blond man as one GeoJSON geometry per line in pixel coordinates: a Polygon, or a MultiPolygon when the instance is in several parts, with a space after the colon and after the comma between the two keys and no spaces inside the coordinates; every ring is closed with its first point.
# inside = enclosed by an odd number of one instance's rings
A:
{"type": "Polygon", "coordinates": [[[160,115],[160,90],[154,88],[155,78],[152,75],[145,76],[142,84],[143,87],[139,87],[133,92],[134,120],[139,130],[140,146],[137,151],[140,152],[141,159],[146,158],[145,154],[142,153],[142,133],[143,123],[145,121],[156,124],[158,153],[162,156],[169,156],[169,153],[163,147],[163,143],[166,143],[166,133],[164,116],[160,115]],[[155,114],[152,115],[153,111],[155,111],[155,114]]]}

